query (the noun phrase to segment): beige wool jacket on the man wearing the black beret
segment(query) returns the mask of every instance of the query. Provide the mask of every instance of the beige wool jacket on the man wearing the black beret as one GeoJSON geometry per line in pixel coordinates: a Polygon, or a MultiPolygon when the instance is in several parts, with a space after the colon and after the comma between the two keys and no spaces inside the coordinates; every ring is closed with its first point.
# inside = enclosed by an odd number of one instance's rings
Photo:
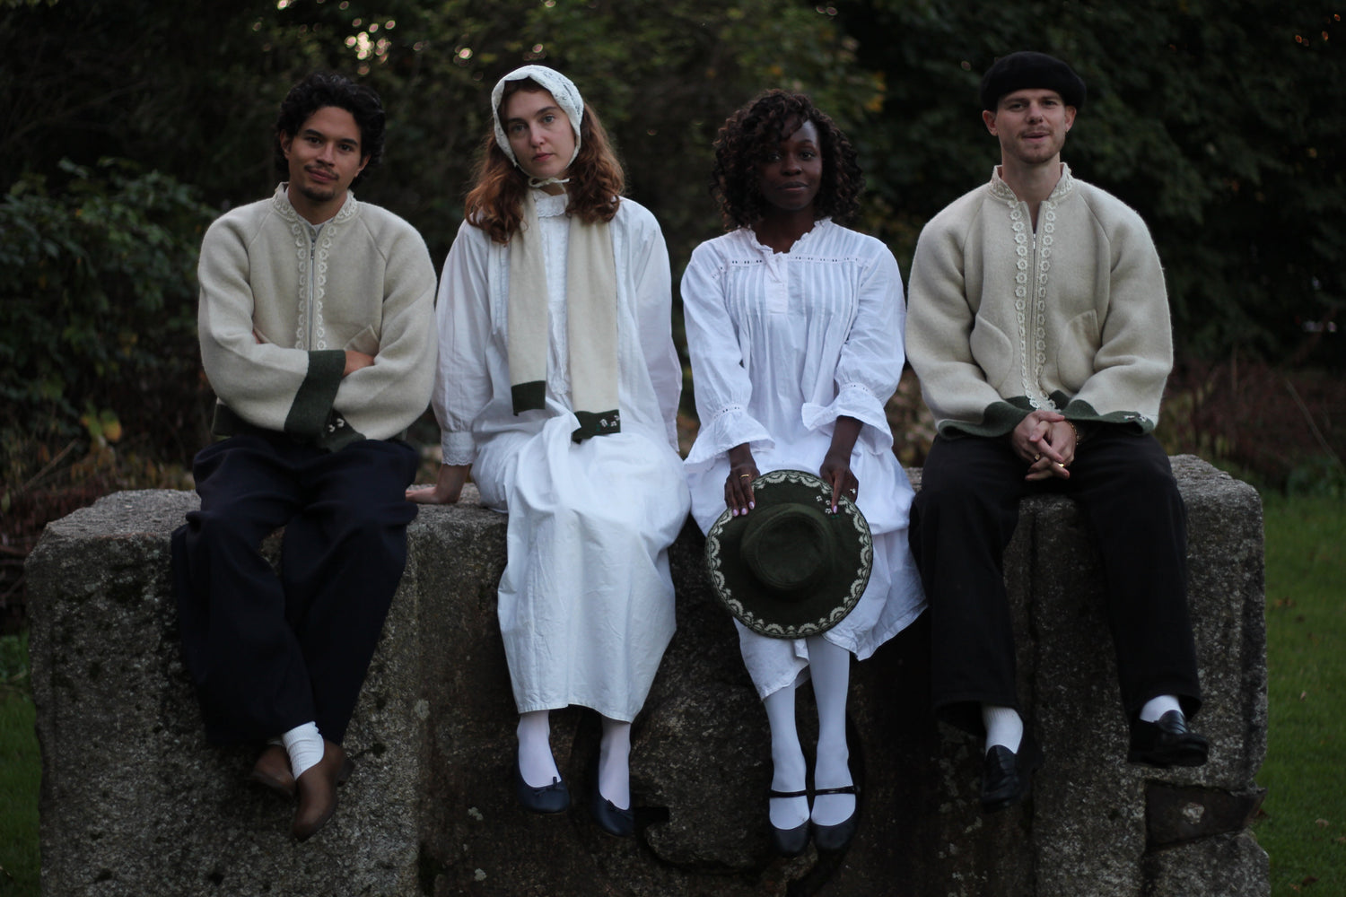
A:
{"type": "Polygon", "coordinates": [[[921,231],[906,347],[945,436],[1003,436],[1034,409],[1148,433],[1172,367],[1159,254],[1110,194],[1061,180],[1038,211],[992,172],[921,231]]]}

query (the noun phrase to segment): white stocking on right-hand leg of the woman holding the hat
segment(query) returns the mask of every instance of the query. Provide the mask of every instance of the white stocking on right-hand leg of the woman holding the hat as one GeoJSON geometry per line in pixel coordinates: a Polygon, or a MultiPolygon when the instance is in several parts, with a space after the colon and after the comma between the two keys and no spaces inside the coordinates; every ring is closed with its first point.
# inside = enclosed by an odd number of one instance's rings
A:
{"type": "MultiPolygon", "coordinates": [[[[851,690],[851,652],[824,636],[809,636],[809,671],[818,705],[818,750],[813,788],[843,788],[851,779],[845,742],[845,702],[851,690]]],[[[814,795],[813,822],[836,826],[855,814],[855,795],[814,795]]]]}

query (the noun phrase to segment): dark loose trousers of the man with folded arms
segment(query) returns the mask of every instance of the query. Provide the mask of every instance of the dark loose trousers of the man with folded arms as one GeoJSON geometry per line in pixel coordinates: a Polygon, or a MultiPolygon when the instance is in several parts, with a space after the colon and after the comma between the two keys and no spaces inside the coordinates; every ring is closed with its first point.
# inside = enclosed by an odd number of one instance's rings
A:
{"type": "Polygon", "coordinates": [[[322,452],[277,434],[197,455],[201,510],[172,534],[172,584],[210,741],[308,721],[342,741],[406,563],[416,463],[400,441],[322,452]],[[277,576],[260,546],[279,527],[277,576]]]}

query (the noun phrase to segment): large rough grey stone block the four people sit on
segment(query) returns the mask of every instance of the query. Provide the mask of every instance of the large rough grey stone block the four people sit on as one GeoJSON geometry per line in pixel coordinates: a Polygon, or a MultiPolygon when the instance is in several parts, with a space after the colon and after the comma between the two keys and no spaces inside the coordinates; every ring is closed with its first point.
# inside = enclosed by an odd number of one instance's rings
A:
{"type": "MultiPolygon", "coordinates": [[[[922,619],[852,672],[855,842],[793,861],[767,851],[766,715],[690,524],[672,558],[678,631],[633,729],[635,838],[587,815],[590,711],[553,714],[576,806],[544,818],[514,804],[517,717],[495,619],[505,518],[470,492],[411,527],[346,738],[355,775],[334,820],[296,845],[291,806],[246,784],[254,752],[205,742],[182,666],[168,534],[195,496],[108,496],[48,526],[28,561],[43,894],[1264,896],[1267,857],[1248,830],[1267,733],[1261,506],[1198,459],[1174,469],[1210,764],[1125,763],[1097,554],[1069,499],[1032,498],[1005,563],[1020,687],[1047,752],[1032,800],[980,812],[980,745],[933,719],[922,619]]],[[[806,729],[808,689],[800,703],[806,729]]]]}

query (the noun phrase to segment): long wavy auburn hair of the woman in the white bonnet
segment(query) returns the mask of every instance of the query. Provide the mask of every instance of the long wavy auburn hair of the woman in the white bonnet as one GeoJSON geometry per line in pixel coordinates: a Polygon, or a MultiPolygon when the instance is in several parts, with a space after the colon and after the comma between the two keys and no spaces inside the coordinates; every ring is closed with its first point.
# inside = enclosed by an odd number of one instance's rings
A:
{"type": "MultiPolygon", "coordinates": [[[[545,90],[532,78],[511,81],[505,85],[501,108],[520,90],[545,90]]],[[[579,215],[581,221],[595,223],[612,221],[621,196],[626,191],[626,175],[618,161],[612,144],[607,139],[603,122],[588,104],[584,104],[584,117],[580,121],[580,153],[567,172],[569,183],[565,192],[569,202],[565,212],[579,215]]],[[[472,187],[463,202],[463,212],[468,222],[481,227],[497,243],[507,243],[524,221],[524,192],[528,190],[528,175],[510,161],[505,151],[495,143],[494,121],[482,140],[476,169],[472,173],[472,187]]]]}

